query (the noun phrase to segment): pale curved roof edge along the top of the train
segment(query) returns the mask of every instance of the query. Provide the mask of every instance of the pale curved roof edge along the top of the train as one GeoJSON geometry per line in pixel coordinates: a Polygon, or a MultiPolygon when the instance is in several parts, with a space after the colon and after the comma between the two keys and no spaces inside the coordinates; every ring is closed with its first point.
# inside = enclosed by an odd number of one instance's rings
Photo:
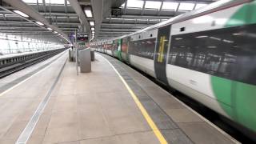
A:
{"type": "MultiPolygon", "coordinates": [[[[220,1],[217,1],[217,2],[213,2],[208,6],[204,6],[202,8],[197,9],[197,10],[192,10],[190,12],[180,14],[180,15],[178,15],[174,18],[170,18],[170,19],[168,19],[164,22],[159,22],[158,24],[155,24],[153,26],[149,26],[149,27],[146,27],[145,29],[138,30],[138,31],[136,31],[132,34],[126,34],[126,35],[123,35],[121,37],[111,38],[111,39],[108,39],[106,41],[111,41],[111,40],[115,40],[115,39],[119,39],[119,38],[125,38],[125,37],[128,37],[128,36],[134,35],[134,34],[142,33],[143,31],[154,30],[154,29],[157,29],[158,27],[174,24],[174,23],[177,23],[177,22],[186,21],[186,20],[191,19],[191,18],[196,18],[196,17],[202,16],[202,15],[205,15],[205,14],[210,14],[210,13],[213,13],[215,11],[228,9],[230,7],[233,7],[233,6],[238,6],[238,5],[241,5],[243,3],[252,2],[252,1],[254,1],[254,0],[220,0],[220,1]]],[[[105,41],[101,41],[101,42],[105,42],[105,41]]]]}

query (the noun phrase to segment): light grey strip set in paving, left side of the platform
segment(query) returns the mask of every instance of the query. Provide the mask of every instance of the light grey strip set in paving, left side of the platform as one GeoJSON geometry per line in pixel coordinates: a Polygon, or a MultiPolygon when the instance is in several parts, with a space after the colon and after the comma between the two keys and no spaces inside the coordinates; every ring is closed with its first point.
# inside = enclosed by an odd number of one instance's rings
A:
{"type": "MultiPolygon", "coordinates": [[[[67,59],[66,59],[66,61],[67,61],[67,59]]],[[[46,97],[43,98],[43,100],[39,104],[37,110],[35,110],[33,116],[30,118],[30,121],[26,124],[25,129],[22,131],[22,134],[18,137],[16,144],[25,144],[29,140],[30,135],[34,131],[34,127],[37,125],[38,120],[39,120],[43,110],[46,108],[46,105],[50,100],[50,96],[51,96],[55,86],[57,85],[58,79],[61,77],[62,71],[64,70],[64,67],[66,65],[66,61],[64,62],[62,69],[59,71],[58,76],[55,79],[53,85],[50,87],[50,90],[46,94],[46,97]]]]}

